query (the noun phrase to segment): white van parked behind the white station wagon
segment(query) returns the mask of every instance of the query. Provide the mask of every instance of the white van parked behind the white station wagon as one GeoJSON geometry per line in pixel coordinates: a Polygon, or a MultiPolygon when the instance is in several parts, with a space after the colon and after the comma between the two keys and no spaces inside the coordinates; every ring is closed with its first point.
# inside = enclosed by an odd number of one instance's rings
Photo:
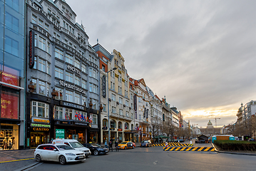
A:
{"type": "Polygon", "coordinates": [[[66,144],[73,147],[76,150],[81,150],[85,153],[86,158],[91,155],[91,151],[87,147],[83,147],[78,140],[71,140],[71,139],[63,139],[63,140],[53,140],[53,144],[66,144]]]}

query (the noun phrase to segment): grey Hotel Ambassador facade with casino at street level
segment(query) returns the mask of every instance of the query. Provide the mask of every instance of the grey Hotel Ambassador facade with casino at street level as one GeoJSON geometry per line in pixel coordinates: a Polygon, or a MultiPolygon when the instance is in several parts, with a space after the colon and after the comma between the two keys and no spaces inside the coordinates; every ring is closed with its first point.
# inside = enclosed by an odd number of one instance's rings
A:
{"type": "Polygon", "coordinates": [[[66,1],[27,1],[26,146],[100,141],[99,59],[66,1]]]}

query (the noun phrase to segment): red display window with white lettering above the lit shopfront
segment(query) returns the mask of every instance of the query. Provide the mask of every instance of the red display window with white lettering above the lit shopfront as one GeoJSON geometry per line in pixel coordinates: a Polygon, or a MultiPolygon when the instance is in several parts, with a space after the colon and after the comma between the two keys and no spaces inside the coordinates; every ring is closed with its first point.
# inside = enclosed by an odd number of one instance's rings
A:
{"type": "Polygon", "coordinates": [[[2,88],[1,90],[1,118],[18,119],[19,92],[2,88]]]}

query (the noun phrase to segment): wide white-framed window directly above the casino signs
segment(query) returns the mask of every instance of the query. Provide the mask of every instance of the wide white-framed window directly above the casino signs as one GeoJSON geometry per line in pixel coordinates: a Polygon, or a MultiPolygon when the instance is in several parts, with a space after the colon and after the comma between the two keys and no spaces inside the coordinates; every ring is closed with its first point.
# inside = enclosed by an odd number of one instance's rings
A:
{"type": "Polygon", "coordinates": [[[37,101],[32,101],[32,116],[48,118],[49,105],[37,101]]]}

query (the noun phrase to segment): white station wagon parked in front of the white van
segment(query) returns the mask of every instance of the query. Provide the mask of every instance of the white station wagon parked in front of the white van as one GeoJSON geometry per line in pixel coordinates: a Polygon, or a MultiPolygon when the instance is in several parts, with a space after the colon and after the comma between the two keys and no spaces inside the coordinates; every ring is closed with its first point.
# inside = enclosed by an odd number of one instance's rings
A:
{"type": "Polygon", "coordinates": [[[65,144],[43,144],[36,147],[34,157],[37,162],[41,160],[60,162],[65,165],[66,162],[78,162],[86,160],[86,155],[80,150],[75,150],[65,144]]]}

